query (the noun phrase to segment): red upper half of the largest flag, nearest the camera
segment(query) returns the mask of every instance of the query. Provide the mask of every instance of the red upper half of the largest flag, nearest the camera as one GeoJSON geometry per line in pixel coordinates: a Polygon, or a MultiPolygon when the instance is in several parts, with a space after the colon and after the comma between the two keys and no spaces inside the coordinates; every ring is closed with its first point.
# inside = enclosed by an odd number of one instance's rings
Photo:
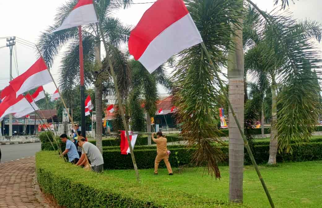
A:
{"type": "Polygon", "coordinates": [[[131,31],[128,41],[130,54],[138,60],[147,46],[171,24],[189,12],[182,0],[158,0],[142,16],[131,31]],[[171,15],[169,15],[171,14],[171,15]],[[142,33],[144,31],[144,33],[142,33]]]}

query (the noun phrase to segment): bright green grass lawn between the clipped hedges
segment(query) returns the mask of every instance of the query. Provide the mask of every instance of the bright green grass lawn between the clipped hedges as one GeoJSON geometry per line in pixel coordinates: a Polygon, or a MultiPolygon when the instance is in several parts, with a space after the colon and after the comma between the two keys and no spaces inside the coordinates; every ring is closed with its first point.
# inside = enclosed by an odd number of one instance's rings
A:
{"type": "MultiPolygon", "coordinates": [[[[166,189],[169,192],[181,190],[219,201],[228,201],[229,167],[223,166],[220,170],[222,176],[220,180],[208,175],[203,176],[203,168],[187,168],[184,172],[175,173],[173,176],[167,175],[166,169],[159,169],[159,175],[153,175],[152,169],[139,170],[139,173],[141,183],[152,188],[166,189]]],[[[284,163],[277,167],[261,165],[260,171],[275,207],[322,207],[322,161],[284,163]]],[[[134,170],[107,170],[105,174],[125,181],[135,180],[134,170]]],[[[270,207],[252,166],[244,168],[243,191],[245,205],[270,207]]]]}

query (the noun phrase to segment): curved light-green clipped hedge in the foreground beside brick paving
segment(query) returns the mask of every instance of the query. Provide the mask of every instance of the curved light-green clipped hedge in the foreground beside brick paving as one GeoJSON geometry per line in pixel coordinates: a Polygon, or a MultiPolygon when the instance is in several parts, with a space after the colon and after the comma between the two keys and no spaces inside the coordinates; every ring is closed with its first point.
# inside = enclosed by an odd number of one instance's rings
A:
{"type": "Polygon", "coordinates": [[[125,181],[120,178],[84,171],[64,163],[52,151],[36,154],[37,180],[41,190],[63,207],[118,208],[246,208],[239,204],[218,202],[212,198],[155,187],[147,181],[125,181]],[[63,170],[63,171],[62,171],[63,170]],[[80,178],[82,180],[80,180],[80,178]]]}

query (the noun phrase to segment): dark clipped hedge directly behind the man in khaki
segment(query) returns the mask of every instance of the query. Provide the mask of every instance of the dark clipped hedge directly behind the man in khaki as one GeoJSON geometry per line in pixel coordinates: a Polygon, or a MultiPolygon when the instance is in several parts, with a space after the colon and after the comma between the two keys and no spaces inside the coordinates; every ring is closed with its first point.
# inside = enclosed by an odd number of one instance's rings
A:
{"type": "MultiPolygon", "coordinates": [[[[295,144],[291,145],[292,153],[278,153],[277,162],[302,162],[302,161],[312,161],[312,160],[322,160],[322,142],[319,143],[305,143],[301,146],[295,144]]],[[[228,165],[228,147],[220,147],[223,153],[225,154],[225,161],[221,165],[228,165]]],[[[168,148],[171,151],[169,161],[172,166],[177,167],[177,160],[175,156],[178,157],[180,161],[179,165],[187,165],[191,163],[192,155],[195,151],[194,148],[178,148],[172,149],[168,148]],[[175,155],[177,152],[177,155],[175,155]]],[[[258,164],[267,163],[269,158],[269,145],[258,145],[254,147],[253,155],[258,164]]],[[[250,165],[251,160],[245,149],[245,158],[244,164],[250,165]]],[[[135,159],[137,162],[137,167],[140,169],[144,168],[153,168],[154,160],[156,157],[155,149],[135,149],[135,159]]],[[[131,169],[133,168],[132,160],[130,155],[121,155],[119,150],[110,150],[103,151],[104,158],[104,169],[131,169]]],[[[160,163],[161,167],[165,167],[164,163],[160,163]]]]}

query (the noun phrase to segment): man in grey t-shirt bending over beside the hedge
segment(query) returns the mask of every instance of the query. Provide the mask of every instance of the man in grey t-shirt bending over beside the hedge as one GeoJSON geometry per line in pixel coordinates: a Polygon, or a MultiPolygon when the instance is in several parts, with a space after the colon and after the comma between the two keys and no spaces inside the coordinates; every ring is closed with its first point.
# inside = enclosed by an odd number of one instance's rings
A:
{"type": "Polygon", "coordinates": [[[92,169],[97,172],[103,172],[103,156],[100,153],[99,149],[90,142],[85,141],[84,137],[80,137],[79,146],[83,147],[81,158],[79,159],[76,165],[85,165],[86,159],[85,154],[90,162],[92,169]]]}

